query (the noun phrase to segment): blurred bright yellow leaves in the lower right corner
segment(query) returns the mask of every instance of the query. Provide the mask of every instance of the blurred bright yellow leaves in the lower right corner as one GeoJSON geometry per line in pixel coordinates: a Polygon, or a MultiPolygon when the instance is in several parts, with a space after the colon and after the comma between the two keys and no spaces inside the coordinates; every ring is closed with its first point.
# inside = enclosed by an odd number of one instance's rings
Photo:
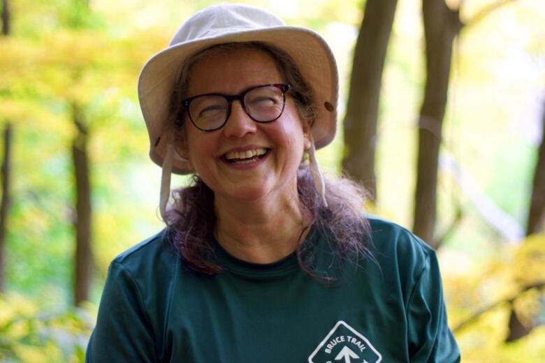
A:
{"type": "Polygon", "coordinates": [[[540,362],[545,353],[545,326],[533,329],[516,343],[504,343],[511,302],[521,323],[543,324],[545,234],[533,235],[517,246],[506,246],[484,266],[446,276],[450,323],[456,332],[464,362],[540,362]],[[537,288],[532,288],[537,286],[537,288]],[[473,313],[484,309],[479,316],[473,313]]]}

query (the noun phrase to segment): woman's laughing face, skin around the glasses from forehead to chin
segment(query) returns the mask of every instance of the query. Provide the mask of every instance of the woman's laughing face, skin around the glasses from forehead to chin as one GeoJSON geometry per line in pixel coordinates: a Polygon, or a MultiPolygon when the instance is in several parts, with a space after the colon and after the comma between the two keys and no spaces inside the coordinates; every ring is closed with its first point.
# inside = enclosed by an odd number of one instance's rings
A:
{"type": "MultiPolygon", "coordinates": [[[[283,82],[267,53],[243,49],[198,61],[189,77],[187,96],[234,95],[283,82]]],[[[217,201],[296,197],[296,173],[310,139],[309,127],[300,120],[289,92],[284,112],[276,121],[257,123],[239,101],[233,101],[231,114],[219,130],[198,130],[189,118],[184,124],[190,167],[212,188],[217,201]],[[256,156],[247,158],[248,151],[256,156]]]]}

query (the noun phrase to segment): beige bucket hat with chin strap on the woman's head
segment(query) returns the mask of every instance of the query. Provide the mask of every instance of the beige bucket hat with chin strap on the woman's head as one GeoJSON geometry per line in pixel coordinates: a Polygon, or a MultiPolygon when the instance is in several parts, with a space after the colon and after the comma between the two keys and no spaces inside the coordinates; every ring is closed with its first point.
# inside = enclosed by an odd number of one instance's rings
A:
{"type": "MultiPolygon", "coordinates": [[[[316,32],[289,27],[275,15],[254,6],[220,3],[199,11],[176,31],[168,47],[154,54],[138,79],[138,99],[150,136],[150,158],[163,168],[161,214],[170,192],[170,172],[194,172],[166,133],[173,87],[184,61],[211,45],[261,41],[287,52],[314,92],[317,117],[311,127],[314,147],[328,145],[337,125],[338,73],[335,57],[316,32]],[[166,191],[165,191],[166,189],[166,191]]],[[[311,158],[314,157],[312,153],[311,158]]]]}

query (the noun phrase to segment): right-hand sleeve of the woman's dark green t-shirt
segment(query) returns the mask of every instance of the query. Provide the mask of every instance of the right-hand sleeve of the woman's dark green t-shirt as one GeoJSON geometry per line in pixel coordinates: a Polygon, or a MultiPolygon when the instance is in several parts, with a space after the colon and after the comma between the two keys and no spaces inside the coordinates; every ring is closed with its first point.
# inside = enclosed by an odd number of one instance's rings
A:
{"type": "Polygon", "coordinates": [[[411,362],[460,362],[460,351],[446,323],[441,275],[434,251],[416,281],[407,306],[411,362]]]}

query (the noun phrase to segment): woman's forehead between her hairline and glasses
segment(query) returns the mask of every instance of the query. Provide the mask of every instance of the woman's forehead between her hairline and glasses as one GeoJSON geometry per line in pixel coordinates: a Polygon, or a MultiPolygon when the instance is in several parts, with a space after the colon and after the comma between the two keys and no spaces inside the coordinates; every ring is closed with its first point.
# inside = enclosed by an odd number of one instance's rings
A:
{"type": "Polygon", "coordinates": [[[189,71],[187,96],[235,94],[260,84],[283,82],[268,52],[254,48],[220,50],[198,59],[189,71]]]}

